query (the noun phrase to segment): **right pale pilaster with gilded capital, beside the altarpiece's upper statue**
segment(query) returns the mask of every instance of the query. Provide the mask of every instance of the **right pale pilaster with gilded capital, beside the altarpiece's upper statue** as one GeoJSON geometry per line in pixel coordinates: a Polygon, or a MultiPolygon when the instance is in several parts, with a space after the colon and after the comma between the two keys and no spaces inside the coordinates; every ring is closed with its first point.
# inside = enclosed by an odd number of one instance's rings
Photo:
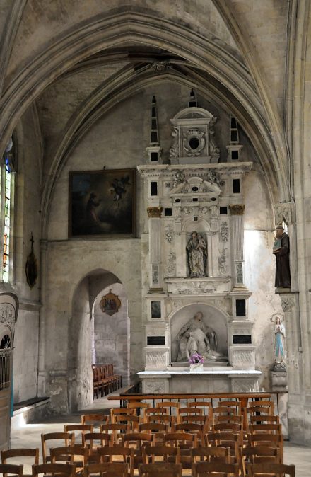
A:
{"type": "Polygon", "coordinates": [[[233,290],[245,290],[244,273],[244,204],[229,205],[232,230],[233,290]]]}

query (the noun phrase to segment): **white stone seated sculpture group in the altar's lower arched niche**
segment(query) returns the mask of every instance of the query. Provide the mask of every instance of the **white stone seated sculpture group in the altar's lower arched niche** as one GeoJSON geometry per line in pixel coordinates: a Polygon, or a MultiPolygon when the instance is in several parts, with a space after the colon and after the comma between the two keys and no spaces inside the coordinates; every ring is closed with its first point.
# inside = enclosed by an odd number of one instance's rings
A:
{"type": "Polygon", "coordinates": [[[217,360],[221,353],[216,351],[217,337],[215,331],[203,321],[203,313],[198,311],[189,320],[177,335],[178,356],[177,361],[186,360],[194,352],[199,352],[207,360],[217,360]]]}

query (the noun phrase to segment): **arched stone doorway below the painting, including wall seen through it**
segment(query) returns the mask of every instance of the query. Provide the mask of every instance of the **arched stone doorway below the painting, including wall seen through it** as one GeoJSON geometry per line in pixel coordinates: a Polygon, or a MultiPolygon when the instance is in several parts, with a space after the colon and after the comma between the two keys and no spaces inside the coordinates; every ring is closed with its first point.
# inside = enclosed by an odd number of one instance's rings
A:
{"type": "MultiPolygon", "coordinates": [[[[120,314],[127,315],[127,295],[124,286],[119,279],[107,270],[93,270],[76,287],[72,301],[72,315],[69,321],[68,339],[68,403],[69,410],[82,409],[93,402],[93,372],[91,364],[94,361],[94,350],[98,349],[100,360],[108,360],[109,363],[117,364],[116,371],[120,369],[120,361],[117,355],[120,347],[115,347],[115,352],[111,352],[111,341],[108,338],[109,326],[105,323],[105,315],[100,311],[100,299],[105,296],[109,289],[122,290],[122,303],[120,314]],[[115,287],[115,288],[114,288],[115,287]],[[96,323],[96,326],[95,326],[96,323]],[[106,326],[107,325],[107,326],[106,326]],[[95,346],[95,337],[99,343],[95,346]],[[99,351],[100,350],[100,351],[99,351]]],[[[109,315],[107,315],[109,316],[109,315]]],[[[109,316],[109,318],[111,318],[109,316]]],[[[112,316],[113,319],[113,316],[112,316]]],[[[122,320],[119,319],[121,322],[122,320]]],[[[124,327],[120,331],[120,339],[117,338],[119,332],[115,328],[115,343],[124,341],[127,355],[127,373],[129,372],[129,318],[126,316],[126,333],[124,327]]],[[[110,338],[112,332],[110,329],[110,338]]],[[[123,353],[123,352],[122,352],[123,353]]],[[[123,362],[123,361],[122,361],[123,362]]],[[[121,374],[121,373],[120,373],[121,374]]],[[[124,374],[124,378],[127,375],[124,374]]]]}

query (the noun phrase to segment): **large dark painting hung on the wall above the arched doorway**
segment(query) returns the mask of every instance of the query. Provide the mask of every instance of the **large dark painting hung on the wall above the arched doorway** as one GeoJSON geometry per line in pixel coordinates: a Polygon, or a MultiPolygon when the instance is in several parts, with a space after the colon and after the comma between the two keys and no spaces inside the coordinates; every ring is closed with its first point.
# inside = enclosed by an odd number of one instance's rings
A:
{"type": "Polygon", "coordinates": [[[136,236],[136,169],[69,173],[69,237],[136,236]]]}

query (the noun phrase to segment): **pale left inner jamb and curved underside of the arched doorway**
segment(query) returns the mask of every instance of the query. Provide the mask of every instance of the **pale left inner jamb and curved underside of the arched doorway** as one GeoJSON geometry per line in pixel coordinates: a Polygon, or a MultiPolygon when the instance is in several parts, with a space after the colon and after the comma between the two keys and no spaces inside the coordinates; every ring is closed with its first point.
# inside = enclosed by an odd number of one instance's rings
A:
{"type": "Polygon", "coordinates": [[[93,402],[93,309],[96,299],[102,295],[102,290],[112,287],[113,284],[121,282],[112,272],[93,270],[74,290],[67,354],[70,411],[85,408],[93,402]]]}

